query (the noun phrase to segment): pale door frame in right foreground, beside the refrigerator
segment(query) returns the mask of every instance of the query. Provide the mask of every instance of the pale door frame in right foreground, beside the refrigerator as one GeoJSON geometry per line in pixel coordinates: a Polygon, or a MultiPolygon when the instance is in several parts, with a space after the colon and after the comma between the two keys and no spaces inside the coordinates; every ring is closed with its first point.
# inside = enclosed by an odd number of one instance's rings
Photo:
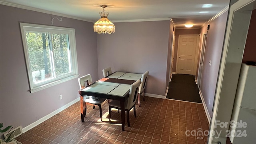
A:
{"type": "Polygon", "coordinates": [[[229,129],[232,116],[244,47],[255,4],[255,0],[238,0],[230,6],[210,123],[210,132],[219,132],[220,137],[210,134],[208,144],[226,144],[226,130],[229,129]],[[228,122],[228,126],[223,128],[217,122],[228,122]]]}

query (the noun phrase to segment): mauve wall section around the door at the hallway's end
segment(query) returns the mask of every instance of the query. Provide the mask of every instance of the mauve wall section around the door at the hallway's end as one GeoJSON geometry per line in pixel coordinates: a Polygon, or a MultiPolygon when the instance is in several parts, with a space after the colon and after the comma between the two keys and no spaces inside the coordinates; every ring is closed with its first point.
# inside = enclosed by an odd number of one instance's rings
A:
{"type": "Polygon", "coordinates": [[[176,72],[178,41],[180,34],[200,34],[200,29],[176,29],[175,30],[175,42],[174,42],[174,60],[173,60],[173,72],[176,72]]]}

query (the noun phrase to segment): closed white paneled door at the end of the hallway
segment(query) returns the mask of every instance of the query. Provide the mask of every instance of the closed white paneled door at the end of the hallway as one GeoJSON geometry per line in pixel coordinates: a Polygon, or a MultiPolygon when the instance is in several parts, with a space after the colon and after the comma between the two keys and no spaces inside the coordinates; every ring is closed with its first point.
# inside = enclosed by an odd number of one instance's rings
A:
{"type": "Polygon", "coordinates": [[[176,73],[193,74],[198,36],[179,36],[176,73]]]}

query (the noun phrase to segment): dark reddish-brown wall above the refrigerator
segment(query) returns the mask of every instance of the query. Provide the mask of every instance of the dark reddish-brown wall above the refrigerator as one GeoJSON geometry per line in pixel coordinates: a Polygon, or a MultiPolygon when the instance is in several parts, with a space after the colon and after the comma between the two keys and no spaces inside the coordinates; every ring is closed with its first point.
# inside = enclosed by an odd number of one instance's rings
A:
{"type": "Polygon", "coordinates": [[[256,10],[252,11],[252,17],[247,34],[246,44],[244,48],[244,56],[242,62],[256,62],[256,10]]]}

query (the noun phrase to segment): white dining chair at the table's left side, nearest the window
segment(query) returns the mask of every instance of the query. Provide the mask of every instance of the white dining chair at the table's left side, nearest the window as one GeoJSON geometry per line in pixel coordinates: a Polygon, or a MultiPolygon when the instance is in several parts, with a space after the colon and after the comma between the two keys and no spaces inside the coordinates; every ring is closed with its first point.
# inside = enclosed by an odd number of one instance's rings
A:
{"type": "MultiPolygon", "coordinates": [[[[92,76],[90,74],[87,74],[86,76],[82,76],[81,78],[78,78],[78,83],[80,86],[80,89],[85,88],[86,86],[89,86],[92,84],[92,76]]],[[[84,109],[84,117],[86,115],[86,108],[87,104],[93,105],[93,109],[95,109],[95,106],[99,106],[100,109],[100,120],[102,121],[102,104],[106,102],[106,98],[98,98],[95,96],[84,96],[84,103],[85,103],[85,109],[84,109]]]]}

